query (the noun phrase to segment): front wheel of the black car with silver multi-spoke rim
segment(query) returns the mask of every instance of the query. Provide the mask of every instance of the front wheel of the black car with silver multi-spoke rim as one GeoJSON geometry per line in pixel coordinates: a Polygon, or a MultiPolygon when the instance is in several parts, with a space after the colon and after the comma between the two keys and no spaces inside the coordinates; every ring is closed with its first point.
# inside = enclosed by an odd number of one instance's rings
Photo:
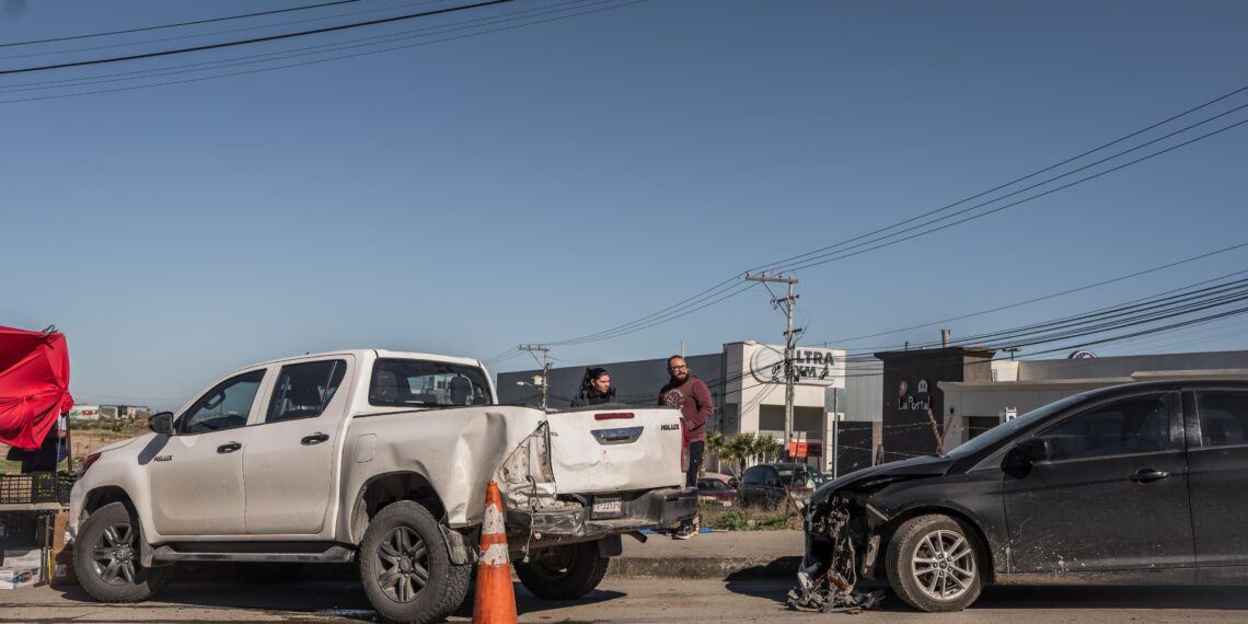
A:
{"type": "Polygon", "coordinates": [[[941,514],[911,518],[889,542],[889,585],[921,612],[960,612],[983,590],[983,555],[963,523],[941,514]]]}

